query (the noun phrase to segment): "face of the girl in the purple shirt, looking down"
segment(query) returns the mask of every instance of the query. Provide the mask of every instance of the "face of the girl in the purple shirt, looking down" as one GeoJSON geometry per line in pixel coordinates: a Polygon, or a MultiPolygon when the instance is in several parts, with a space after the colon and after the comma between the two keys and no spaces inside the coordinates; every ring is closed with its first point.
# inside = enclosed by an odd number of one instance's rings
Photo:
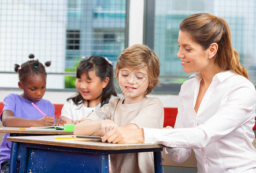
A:
{"type": "Polygon", "coordinates": [[[28,76],[24,82],[19,81],[18,87],[23,89],[21,95],[24,99],[30,101],[40,101],[46,90],[46,76],[44,74],[34,74],[28,76]]]}

